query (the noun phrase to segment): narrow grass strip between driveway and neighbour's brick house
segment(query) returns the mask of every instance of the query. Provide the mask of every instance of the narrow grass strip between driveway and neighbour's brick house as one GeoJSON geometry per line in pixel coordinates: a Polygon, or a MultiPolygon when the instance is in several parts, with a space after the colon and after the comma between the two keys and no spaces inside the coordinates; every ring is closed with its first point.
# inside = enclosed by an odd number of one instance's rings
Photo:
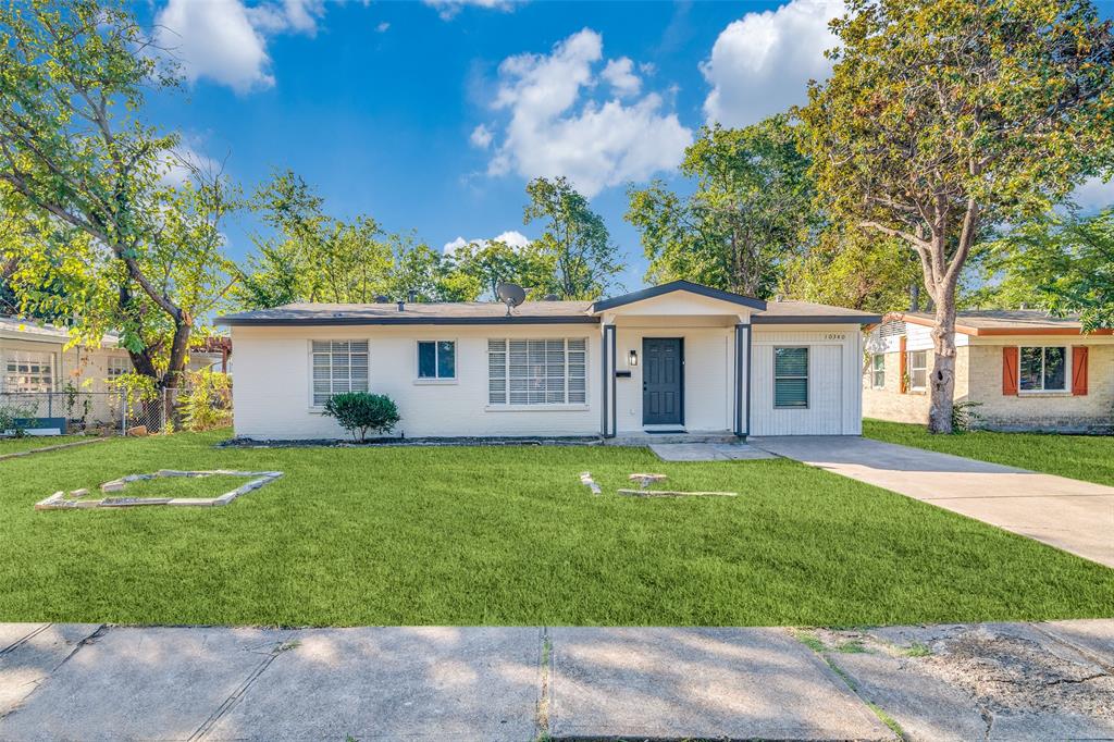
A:
{"type": "Polygon", "coordinates": [[[999,433],[934,436],[925,426],[863,420],[862,435],[890,443],[1114,486],[1114,436],[999,433]]]}

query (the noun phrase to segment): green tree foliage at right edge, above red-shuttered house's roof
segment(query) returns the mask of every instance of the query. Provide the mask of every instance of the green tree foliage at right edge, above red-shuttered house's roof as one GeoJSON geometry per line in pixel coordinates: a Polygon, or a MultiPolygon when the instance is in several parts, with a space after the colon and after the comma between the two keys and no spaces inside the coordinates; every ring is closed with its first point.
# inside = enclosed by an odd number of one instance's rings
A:
{"type": "Polygon", "coordinates": [[[1114,328],[1114,208],[1086,218],[1044,214],[990,243],[984,264],[1001,276],[990,302],[1077,313],[1085,332],[1114,328]]]}

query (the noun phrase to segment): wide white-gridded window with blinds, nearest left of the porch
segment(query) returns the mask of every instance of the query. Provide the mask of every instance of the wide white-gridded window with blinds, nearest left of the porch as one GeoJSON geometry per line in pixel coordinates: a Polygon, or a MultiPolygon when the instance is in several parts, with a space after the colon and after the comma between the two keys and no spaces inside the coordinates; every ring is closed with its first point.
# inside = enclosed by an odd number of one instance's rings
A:
{"type": "Polygon", "coordinates": [[[489,340],[488,403],[585,404],[587,340],[489,340]]]}

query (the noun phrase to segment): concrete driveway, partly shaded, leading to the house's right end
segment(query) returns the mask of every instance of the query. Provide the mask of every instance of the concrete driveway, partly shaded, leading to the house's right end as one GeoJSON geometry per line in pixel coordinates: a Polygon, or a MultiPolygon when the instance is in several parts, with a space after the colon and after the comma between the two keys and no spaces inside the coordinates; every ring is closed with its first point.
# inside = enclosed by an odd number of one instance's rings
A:
{"type": "Polygon", "coordinates": [[[1114,567],[1114,488],[852,436],[751,445],[1114,567]]]}

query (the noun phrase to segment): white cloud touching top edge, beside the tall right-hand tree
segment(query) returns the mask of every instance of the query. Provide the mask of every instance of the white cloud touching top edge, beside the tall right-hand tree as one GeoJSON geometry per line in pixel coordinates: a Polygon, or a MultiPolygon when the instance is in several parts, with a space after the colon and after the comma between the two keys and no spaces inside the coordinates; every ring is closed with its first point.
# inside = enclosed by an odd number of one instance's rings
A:
{"type": "Polygon", "coordinates": [[[823,52],[836,37],[828,21],[843,11],[842,0],[791,0],[730,23],[701,65],[712,85],[704,100],[707,120],[746,126],[803,105],[805,84],[831,72],[823,52]]]}

